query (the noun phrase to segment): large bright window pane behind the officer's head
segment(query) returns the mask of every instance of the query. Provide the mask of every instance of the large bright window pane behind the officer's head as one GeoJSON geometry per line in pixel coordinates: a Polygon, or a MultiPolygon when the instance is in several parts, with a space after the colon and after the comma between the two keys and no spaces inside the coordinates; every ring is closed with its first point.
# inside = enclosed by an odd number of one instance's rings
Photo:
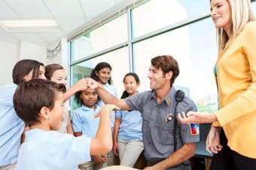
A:
{"type": "Polygon", "coordinates": [[[136,73],[141,79],[143,91],[149,89],[147,74],[151,58],[157,55],[172,55],[180,67],[175,87],[184,90],[196,101],[200,111],[212,112],[218,108],[213,76],[217,44],[212,19],[194,22],[136,43],[134,50],[136,73]]]}

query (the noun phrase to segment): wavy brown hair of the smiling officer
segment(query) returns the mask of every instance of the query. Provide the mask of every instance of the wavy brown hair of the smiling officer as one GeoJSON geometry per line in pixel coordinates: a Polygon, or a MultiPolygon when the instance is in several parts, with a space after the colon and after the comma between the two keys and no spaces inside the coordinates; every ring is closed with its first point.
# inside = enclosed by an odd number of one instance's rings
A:
{"type": "Polygon", "coordinates": [[[172,86],[179,74],[178,62],[171,55],[159,55],[151,59],[151,64],[157,69],[160,68],[163,73],[172,71],[172,79],[170,82],[172,86]]]}

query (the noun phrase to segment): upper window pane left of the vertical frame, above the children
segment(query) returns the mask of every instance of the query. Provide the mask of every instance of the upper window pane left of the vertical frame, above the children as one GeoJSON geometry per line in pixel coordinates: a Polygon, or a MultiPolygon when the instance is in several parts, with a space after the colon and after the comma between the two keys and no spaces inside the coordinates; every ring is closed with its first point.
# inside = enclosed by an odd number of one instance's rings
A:
{"type": "Polygon", "coordinates": [[[127,14],[72,41],[72,61],[87,57],[128,40],[127,14]]]}

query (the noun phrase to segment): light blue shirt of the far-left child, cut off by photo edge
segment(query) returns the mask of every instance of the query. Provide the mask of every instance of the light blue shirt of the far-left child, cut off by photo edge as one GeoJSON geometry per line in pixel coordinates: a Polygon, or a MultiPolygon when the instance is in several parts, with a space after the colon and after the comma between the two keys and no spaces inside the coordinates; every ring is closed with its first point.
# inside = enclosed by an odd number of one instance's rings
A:
{"type": "Polygon", "coordinates": [[[0,88],[0,166],[17,162],[20,138],[25,127],[14,111],[16,88],[14,83],[0,88]]]}

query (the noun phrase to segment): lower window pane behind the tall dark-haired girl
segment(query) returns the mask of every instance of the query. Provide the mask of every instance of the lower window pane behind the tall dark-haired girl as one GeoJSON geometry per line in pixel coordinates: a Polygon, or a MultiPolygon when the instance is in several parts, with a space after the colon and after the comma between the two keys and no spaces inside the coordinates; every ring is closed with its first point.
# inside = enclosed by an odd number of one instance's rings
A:
{"type": "Polygon", "coordinates": [[[91,71],[99,62],[108,62],[111,65],[112,85],[117,88],[118,97],[120,97],[123,93],[123,76],[130,72],[127,47],[72,66],[72,84],[78,82],[78,79],[90,77],[91,71]]]}

